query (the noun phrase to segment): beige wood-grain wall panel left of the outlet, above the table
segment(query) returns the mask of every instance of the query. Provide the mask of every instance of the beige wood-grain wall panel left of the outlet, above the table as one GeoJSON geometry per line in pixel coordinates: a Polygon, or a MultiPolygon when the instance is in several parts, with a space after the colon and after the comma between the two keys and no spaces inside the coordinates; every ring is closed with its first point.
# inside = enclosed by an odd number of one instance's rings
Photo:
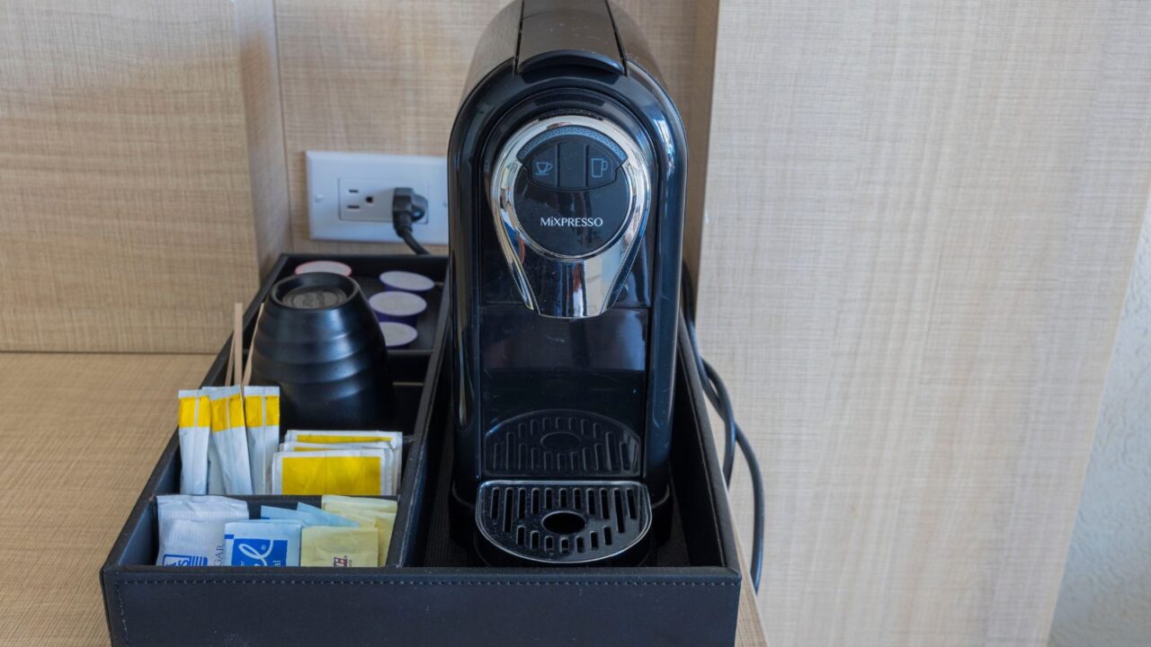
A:
{"type": "Polygon", "coordinates": [[[0,14],[0,350],[219,348],[257,280],[231,2],[0,14]]]}

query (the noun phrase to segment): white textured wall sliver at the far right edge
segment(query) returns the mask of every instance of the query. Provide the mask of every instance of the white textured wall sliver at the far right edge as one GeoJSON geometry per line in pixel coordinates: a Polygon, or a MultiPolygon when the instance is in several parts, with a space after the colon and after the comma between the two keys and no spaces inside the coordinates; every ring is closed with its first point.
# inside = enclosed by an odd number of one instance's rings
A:
{"type": "Polygon", "coordinates": [[[1151,645],[1151,213],[1099,411],[1052,647],[1151,645]]]}

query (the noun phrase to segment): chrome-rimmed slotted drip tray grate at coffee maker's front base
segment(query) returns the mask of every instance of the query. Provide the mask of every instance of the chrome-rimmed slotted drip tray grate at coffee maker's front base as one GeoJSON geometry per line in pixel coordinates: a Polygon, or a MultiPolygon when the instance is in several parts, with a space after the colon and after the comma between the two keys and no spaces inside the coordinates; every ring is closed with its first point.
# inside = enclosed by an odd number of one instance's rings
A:
{"type": "Polygon", "coordinates": [[[634,481],[487,481],[475,524],[510,556],[582,564],[637,546],[651,526],[651,501],[634,481]]]}

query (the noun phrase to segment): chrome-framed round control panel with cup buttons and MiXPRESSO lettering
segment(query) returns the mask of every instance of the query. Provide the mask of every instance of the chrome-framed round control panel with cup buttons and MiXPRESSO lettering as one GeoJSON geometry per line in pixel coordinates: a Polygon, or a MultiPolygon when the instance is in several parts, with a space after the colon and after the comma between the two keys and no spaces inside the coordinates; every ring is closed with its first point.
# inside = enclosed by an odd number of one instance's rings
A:
{"type": "Polygon", "coordinates": [[[524,304],[557,318],[610,307],[651,201],[639,144],[607,120],[541,119],[506,140],[489,182],[500,245],[524,304]]]}

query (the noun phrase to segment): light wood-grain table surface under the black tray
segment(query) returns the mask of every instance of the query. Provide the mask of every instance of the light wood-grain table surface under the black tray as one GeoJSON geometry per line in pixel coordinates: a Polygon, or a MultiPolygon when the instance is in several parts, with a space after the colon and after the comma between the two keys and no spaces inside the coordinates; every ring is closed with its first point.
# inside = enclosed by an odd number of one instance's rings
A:
{"type": "MultiPolygon", "coordinates": [[[[108,642],[100,565],[211,360],[0,353],[0,645],[108,642]]],[[[767,645],[746,586],[735,645],[767,645]]]]}

